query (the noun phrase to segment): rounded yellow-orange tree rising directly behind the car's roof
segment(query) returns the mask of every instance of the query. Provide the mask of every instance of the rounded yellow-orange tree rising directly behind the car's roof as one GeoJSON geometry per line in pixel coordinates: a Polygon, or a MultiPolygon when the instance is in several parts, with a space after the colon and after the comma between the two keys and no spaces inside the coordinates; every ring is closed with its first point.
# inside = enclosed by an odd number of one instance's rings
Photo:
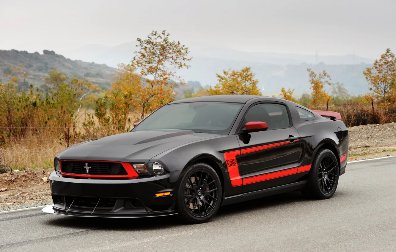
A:
{"type": "Polygon", "coordinates": [[[257,83],[254,79],[255,73],[250,68],[242,68],[242,70],[223,70],[224,75],[217,74],[217,84],[214,88],[208,89],[209,95],[218,94],[250,94],[261,95],[257,83]]]}

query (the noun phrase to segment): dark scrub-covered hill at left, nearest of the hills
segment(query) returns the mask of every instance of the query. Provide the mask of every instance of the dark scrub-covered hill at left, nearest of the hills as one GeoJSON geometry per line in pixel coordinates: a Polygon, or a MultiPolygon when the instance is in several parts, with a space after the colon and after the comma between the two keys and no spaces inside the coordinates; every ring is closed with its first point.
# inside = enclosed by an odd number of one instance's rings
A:
{"type": "MultiPolygon", "coordinates": [[[[38,52],[28,53],[27,51],[4,51],[0,50],[0,71],[6,73],[11,66],[24,65],[24,71],[29,75],[27,82],[35,87],[44,85],[43,78],[48,75],[50,69],[56,68],[58,71],[66,73],[70,77],[87,79],[102,88],[110,87],[112,74],[117,72],[116,68],[106,64],[95,64],[94,62],[83,62],[81,60],[71,60],[54,51],[44,50],[43,54],[38,52]]],[[[8,79],[0,75],[0,81],[6,82],[8,79]]]]}

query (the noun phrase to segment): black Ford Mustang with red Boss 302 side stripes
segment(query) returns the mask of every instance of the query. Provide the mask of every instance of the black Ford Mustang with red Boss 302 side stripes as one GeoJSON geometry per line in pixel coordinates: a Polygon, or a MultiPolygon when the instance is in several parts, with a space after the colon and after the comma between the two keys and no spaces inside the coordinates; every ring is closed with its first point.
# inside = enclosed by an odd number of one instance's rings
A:
{"type": "Polygon", "coordinates": [[[168,103],[127,133],[55,157],[46,213],[210,220],[221,205],[301,191],[333,196],[345,173],[339,113],[248,95],[168,103]]]}

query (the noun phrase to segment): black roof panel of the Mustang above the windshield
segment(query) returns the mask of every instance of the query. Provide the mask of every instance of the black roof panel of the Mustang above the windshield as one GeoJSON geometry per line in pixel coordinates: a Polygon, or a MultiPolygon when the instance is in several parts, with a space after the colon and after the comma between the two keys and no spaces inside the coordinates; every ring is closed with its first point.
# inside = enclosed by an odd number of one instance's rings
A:
{"type": "Polygon", "coordinates": [[[259,95],[245,95],[245,94],[222,94],[222,95],[211,95],[211,96],[200,96],[187,98],[182,100],[177,100],[174,102],[170,102],[168,104],[174,103],[184,103],[184,102],[237,102],[237,103],[246,103],[248,100],[253,98],[266,98],[268,96],[259,96],[259,95]]]}

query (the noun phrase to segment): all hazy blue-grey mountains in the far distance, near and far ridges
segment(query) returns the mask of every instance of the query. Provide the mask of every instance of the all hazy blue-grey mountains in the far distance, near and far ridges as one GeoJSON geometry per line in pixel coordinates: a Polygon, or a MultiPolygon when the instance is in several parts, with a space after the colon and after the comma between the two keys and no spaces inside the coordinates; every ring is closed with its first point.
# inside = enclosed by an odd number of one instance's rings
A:
{"type": "MultiPolygon", "coordinates": [[[[70,58],[95,61],[116,67],[128,63],[138,49],[136,42],[115,47],[87,45],[80,49],[65,51],[70,58]]],[[[193,45],[189,47],[192,60],[188,69],[178,72],[185,81],[199,81],[202,86],[215,85],[216,73],[224,69],[241,69],[249,66],[263,94],[279,94],[282,87],[295,89],[295,93],[309,92],[307,68],[314,71],[326,70],[333,82],[344,83],[350,94],[368,92],[363,71],[371,67],[374,60],[358,55],[301,55],[261,52],[242,52],[225,47],[193,45]]]]}

